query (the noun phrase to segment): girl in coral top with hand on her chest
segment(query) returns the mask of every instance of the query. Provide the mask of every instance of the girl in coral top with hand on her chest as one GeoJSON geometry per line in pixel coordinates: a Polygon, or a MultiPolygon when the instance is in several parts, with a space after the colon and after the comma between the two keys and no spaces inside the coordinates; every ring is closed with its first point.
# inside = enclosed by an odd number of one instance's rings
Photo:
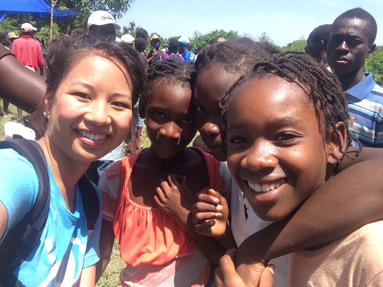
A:
{"type": "Polygon", "coordinates": [[[196,233],[189,216],[197,194],[221,192],[230,179],[226,165],[199,148],[187,148],[197,130],[192,72],[192,64],[176,60],[148,70],[151,92],[141,95],[140,114],[151,147],[114,162],[99,183],[98,278],[115,237],[127,264],[119,286],[204,286],[209,260],[218,263],[225,252],[214,238],[196,233]]]}

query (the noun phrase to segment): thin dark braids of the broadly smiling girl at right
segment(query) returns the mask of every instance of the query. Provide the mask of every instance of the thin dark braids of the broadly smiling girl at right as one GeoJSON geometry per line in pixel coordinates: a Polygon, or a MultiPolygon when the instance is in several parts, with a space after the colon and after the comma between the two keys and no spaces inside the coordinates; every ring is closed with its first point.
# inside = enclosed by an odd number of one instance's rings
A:
{"type": "Polygon", "coordinates": [[[255,65],[253,71],[242,76],[234,83],[224,98],[220,102],[221,114],[225,121],[222,139],[226,139],[227,111],[230,103],[235,97],[236,89],[243,83],[257,78],[270,77],[272,75],[281,77],[288,82],[297,83],[310,89],[309,99],[318,110],[324,114],[324,124],[326,132],[330,128],[336,133],[340,150],[343,155],[347,155],[346,150],[351,146],[352,139],[359,143],[359,150],[356,156],[362,150],[362,145],[349,130],[350,114],[347,107],[344,91],[336,75],[329,72],[325,67],[318,64],[316,60],[302,52],[284,52],[276,55],[268,62],[261,62],[255,65]],[[342,141],[338,134],[337,123],[344,122],[347,132],[346,147],[342,147],[342,141]]]}

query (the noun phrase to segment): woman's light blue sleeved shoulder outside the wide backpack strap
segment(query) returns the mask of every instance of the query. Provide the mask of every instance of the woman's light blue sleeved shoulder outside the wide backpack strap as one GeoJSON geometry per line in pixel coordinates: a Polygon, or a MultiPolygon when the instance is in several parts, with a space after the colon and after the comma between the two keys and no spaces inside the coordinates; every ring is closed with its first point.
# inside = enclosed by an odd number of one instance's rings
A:
{"type": "Polygon", "coordinates": [[[0,150],[0,161],[1,243],[8,230],[33,206],[38,194],[39,181],[32,164],[14,150],[0,150]]]}

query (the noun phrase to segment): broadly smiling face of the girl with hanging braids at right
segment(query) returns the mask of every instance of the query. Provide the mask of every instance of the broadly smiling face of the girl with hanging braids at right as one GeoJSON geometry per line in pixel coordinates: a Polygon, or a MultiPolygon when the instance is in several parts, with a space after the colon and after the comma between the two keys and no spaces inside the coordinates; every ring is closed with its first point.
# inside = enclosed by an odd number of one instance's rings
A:
{"type": "Polygon", "coordinates": [[[322,119],[306,92],[277,76],[252,79],[235,91],[228,109],[228,167],[263,220],[286,217],[324,183],[330,164],[341,157],[333,156],[339,150],[331,142],[334,133],[319,127],[322,119]],[[249,182],[280,186],[255,192],[249,182]]]}

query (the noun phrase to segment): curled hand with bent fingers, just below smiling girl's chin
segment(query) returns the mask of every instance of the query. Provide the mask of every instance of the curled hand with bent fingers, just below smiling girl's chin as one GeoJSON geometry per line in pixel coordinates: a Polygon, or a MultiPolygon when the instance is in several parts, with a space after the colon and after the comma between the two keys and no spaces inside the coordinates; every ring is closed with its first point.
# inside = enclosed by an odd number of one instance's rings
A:
{"type": "Polygon", "coordinates": [[[229,207],[226,199],[213,189],[199,194],[190,209],[195,231],[201,235],[220,237],[226,232],[229,207]]]}

